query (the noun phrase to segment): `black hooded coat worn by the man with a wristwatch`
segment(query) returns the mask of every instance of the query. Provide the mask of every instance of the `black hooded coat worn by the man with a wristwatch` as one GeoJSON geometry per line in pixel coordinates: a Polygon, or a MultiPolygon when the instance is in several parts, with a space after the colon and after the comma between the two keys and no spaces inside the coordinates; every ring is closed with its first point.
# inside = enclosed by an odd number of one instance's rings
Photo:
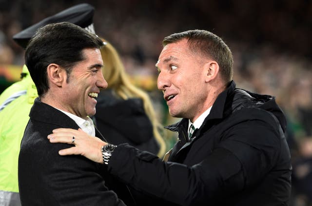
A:
{"type": "Polygon", "coordinates": [[[287,206],[292,166],[285,120],[273,97],[232,82],[192,140],[188,119],[167,127],[179,133],[167,163],[120,144],[108,170],[155,196],[145,195],[143,204],[137,199],[144,206],[287,206]]]}

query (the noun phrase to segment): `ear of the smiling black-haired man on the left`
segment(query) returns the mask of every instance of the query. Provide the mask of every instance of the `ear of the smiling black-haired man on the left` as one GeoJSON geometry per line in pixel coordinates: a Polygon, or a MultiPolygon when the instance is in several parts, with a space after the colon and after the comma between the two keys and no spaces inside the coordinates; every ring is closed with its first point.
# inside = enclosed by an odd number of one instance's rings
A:
{"type": "Polygon", "coordinates": [[[59,64],[50,63],[47,67],[47,77],[50,84],[55,84],[58,87],[61,87],[63,82],[66,82],[66,71],[62,69],[59,64]]]}

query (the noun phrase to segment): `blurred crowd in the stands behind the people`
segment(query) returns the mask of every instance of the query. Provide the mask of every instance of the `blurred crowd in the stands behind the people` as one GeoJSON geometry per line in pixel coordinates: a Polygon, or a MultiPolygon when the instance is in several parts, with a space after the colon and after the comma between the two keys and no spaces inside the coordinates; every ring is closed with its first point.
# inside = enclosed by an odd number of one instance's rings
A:
{"type": "Polygon", "coordinates": [[[292,206],[312,204],[311,0],[0,0],[0,92],[13,83],[5,79],[5,68],[23,64],[24,51],[12,36],[82,2],[95,6],[97,34],[116,46],[132,80],[151,95],[163,124],[178,120],[169,117],[156,88],[162,39],[195,28],[222,37],[234,55],[237,87],[273,95],[284,110],[293,161],[292,206]]]}

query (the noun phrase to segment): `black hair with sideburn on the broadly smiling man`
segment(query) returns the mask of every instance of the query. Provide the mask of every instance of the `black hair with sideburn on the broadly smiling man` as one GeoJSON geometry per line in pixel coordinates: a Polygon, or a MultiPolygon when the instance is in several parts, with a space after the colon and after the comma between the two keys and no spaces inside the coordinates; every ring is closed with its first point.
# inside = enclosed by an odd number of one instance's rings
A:
{"type": "Polygon", "coordinates": [[[69,22],[51,23],[39,28],[25,51],[25,64],[36,84],[38,95],[49,89],[47,66],[59,64],[70,75],[73,66],[84,60],[82,50],[103,45],[98,36],[69,22]]]}

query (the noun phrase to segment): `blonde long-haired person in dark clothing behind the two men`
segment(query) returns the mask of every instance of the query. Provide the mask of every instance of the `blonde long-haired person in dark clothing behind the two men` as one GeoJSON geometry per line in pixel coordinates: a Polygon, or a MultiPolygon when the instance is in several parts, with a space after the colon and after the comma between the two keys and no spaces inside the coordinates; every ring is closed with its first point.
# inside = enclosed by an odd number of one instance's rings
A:
{"type": "Polygon", "coordinates": [[[97,99],[94,121],[98,130],[111,144],[128,143],[162,157],[166,150],[160,135],[163,127],[148,94],[130,82],[117,50],[103,41],[103,75],[108,87],[97,99]]]}

